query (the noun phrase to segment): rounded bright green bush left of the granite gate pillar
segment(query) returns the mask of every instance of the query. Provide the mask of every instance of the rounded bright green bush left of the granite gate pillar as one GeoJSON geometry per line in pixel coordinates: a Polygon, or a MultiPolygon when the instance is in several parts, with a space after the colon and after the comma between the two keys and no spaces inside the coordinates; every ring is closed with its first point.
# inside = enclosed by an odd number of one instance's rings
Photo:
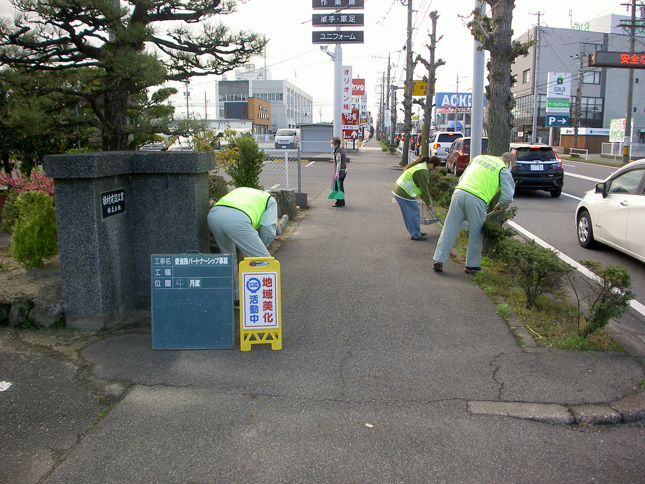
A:
{"type": "Polygon", "coordinates": [[[21,193],[14,205],[18,216],[11,237],[10,254],[25,268],[40,267],[43,257],[58,253],[54,197],[32,190],[21,193]]]}

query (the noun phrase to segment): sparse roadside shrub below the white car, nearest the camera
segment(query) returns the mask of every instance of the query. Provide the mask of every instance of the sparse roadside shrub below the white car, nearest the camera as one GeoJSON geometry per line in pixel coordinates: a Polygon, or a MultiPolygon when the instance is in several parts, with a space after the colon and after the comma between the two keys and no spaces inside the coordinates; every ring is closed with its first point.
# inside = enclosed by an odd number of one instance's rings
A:
{"type": "Polygon", "coordinates": [[[620,265],[602,265],[597,261],[584,260],[582,265],[590,269],[599,281],[590,281],[591,299],[588,310],[584,315],[586,325],[581,329],[580,336],[585,339],[593,332],[603,328],[613,318],[620,318],[630,305],[633,293],[630,273],[620,265]]]}

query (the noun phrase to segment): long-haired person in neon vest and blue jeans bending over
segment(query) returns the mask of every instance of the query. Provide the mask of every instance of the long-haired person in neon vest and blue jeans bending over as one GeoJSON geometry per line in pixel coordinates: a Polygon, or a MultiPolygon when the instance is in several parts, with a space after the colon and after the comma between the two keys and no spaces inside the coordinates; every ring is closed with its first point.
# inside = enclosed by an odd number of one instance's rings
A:
{"type": "Polygon", "coordinates": [[[411,161],[403,168],[403,173],[392,189],[392,194],[401,208],[405,228],[410,233],[410,240],[426,240],[428,238],[425,232],[421,232],[419,204],[416,198],[421,196],[428,211],[432,210],[432,200],[428,195],[429,170],[435,170],[439,163],[441,160],[436,156],[431,158],[422,156],[411,161]]]}

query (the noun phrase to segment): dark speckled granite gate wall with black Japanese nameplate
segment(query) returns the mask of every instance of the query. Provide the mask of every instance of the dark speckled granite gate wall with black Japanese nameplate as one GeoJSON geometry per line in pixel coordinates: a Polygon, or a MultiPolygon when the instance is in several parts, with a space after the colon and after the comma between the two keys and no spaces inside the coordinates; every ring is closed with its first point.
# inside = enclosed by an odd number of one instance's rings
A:
{"type": "Polygon", "coordinates": [[[150,254],[209,253],[212,152],[46,156],[66,324],[101,329],[150,308],[150,254]]]}

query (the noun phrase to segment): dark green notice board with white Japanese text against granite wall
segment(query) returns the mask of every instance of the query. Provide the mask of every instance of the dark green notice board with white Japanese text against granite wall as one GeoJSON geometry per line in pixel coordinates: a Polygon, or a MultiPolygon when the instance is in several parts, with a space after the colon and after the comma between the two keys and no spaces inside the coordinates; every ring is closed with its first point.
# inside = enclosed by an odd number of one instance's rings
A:
{"type": "Polygon", "coordinates": [[[233,257],[230,254],[150,256],[152,348],[233,347],[233,257]]]}

